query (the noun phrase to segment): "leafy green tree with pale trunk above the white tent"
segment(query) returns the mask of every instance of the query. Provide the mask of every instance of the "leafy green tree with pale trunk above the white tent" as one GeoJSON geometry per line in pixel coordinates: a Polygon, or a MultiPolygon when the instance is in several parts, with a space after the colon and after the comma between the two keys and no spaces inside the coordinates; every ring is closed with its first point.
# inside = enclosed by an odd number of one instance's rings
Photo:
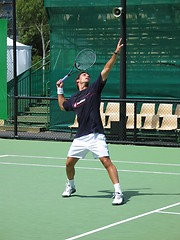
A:
{"type": "MultiPolygon", "coordinates": [[[[18,39],[32,46],[32,59],[43,59],[49,50],[49,24],[42,0],[17,0],[18,39]]],[[[32,61],[34,63],[34,61],[32,61]]]]}

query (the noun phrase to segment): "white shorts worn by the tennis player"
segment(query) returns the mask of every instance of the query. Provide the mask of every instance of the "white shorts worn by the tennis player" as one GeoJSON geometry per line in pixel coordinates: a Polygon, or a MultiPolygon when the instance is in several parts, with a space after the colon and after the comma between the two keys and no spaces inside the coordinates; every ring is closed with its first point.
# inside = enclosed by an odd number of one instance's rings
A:
{"type": "Polygon", "coordinates": [[[68,157],[84,158],[91,151],[94,158],[109,156],[109,150],[104,134],[91,133],[75,138],[68,152],[68,157]]]}

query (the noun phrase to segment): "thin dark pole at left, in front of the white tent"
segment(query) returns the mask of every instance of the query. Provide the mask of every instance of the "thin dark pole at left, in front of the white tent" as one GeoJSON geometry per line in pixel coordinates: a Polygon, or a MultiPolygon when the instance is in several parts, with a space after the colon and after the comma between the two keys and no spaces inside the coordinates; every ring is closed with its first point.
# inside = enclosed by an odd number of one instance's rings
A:
{"type": "Polygon", "coordinates": [[[17,70],[16,70],[16,0],[12,1],[13,6],[13,72],[14,72],[14,138],[17,137],[17,96],[18,96],[18,86],[17,86],[17,70]]]}

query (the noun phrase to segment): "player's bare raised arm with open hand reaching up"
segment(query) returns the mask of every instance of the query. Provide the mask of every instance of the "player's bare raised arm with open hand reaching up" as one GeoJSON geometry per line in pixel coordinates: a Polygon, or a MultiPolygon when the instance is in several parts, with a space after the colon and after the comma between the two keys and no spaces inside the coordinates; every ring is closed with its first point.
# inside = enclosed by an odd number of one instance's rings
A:
{"type": "Polygon", "coordinates": [[[108,74],[110,73],[114,63],[116,62],[118,54],[120,54],[121,47],[123,46],[121,41],[122,41],[122,38],[120,38],[120,40],[117,44],[116,50],[114,51],[111,59],[106,63],[106,65],[104,66],[104,69],[101,72],[101,76],[102,76],[103,81],[105,81],[107,79],[108,74]]]}

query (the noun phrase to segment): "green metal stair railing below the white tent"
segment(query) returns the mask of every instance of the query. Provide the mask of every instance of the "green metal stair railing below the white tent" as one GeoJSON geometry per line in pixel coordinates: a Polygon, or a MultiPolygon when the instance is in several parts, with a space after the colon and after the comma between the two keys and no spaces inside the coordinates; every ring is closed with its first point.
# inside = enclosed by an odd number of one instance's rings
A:
{"type": "MultiPolygon", "coordinates": [[[[18,96],[48,96],[47,83],[49,82],[49,63],[50,55],[32,65],[31,68],[21,73],[18,78],[18,96]]],[[[7,99],[8,99],[8,121],[12,122],[14,119],[14,80],[7,84],[7,99]]],[[[36,101],[26,99],[23,104],[20,102],[18,106],[18,113],[23,113],[30,106],[35,104],[36,101]]]]}

